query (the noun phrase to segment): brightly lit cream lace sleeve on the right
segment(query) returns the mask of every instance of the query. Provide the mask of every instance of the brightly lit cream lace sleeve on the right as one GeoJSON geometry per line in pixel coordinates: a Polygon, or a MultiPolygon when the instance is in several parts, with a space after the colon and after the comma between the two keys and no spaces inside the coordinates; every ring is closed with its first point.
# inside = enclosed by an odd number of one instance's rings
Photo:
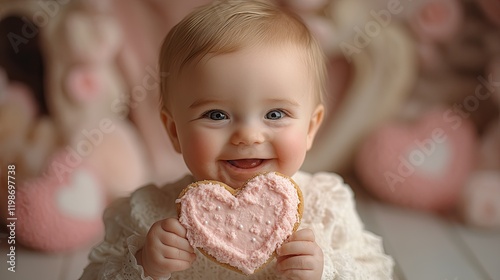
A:
{"type": "Polygon", "coordinates": [[[393,260],[384,253],[381,239],[364,230],[352,190],[342,178],[299,174],[297,183],[307,209],[301,227],[314,230],[323,249],[323,279],[391,279],[393,260]]]}

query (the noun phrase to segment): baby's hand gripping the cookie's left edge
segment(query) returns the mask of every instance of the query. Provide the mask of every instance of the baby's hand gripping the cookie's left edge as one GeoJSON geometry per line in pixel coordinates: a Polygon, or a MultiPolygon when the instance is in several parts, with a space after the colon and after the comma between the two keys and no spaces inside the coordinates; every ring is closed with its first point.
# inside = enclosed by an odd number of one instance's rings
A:
{"type": "Polygon", "coordinates": [[[144,247],[135,256],[144,273],[153,279],[186,270],[196,259],[194,249],[186,239],[186,229],[174,218],[154,223],[144,247]]]}

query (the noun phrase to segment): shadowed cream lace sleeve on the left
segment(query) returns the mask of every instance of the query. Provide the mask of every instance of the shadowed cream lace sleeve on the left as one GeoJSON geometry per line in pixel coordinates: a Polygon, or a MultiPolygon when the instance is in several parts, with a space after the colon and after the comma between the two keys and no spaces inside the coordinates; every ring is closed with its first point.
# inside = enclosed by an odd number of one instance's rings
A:
{"type": "Polygon", "coordinates": [[[169,214],[165,196],[157,187],[147,186],[111,204],[104,213],[104,241],[90,252],[90,264],[80,279],[152,280],[137,264],[135,253],[143,247],[151,225],[169,214]]]}

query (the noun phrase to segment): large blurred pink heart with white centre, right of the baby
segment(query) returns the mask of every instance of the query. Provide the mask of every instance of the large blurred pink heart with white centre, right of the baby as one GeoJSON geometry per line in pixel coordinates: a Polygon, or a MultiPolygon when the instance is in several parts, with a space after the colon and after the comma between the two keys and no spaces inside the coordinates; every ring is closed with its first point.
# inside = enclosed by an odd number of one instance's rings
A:
{"type": "Polygon", "coordinates": [[[476,157],[472,124],[437,110],[414,125],[390,123],[362,144],[355,165],[369,191],[382,200],[422,210],[458,202],[476,157]]]}

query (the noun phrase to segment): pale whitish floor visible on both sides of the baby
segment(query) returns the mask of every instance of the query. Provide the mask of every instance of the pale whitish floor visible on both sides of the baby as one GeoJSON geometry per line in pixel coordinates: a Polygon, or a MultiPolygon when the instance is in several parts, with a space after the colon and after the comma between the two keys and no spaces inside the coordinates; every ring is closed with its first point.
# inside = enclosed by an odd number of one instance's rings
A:
{"type": "MultiPolygon", "coordinates": [[[[399,280],[500,279],[500,232],[464,227],[437,216],[381,204],[363,192],[358,211],[371,231],[384,237],[399,280]]],[[[2,232],[5,229],[2,228],[2,232]]],[[[16,272],[7,270],[6,235],[0,235],[0,279],[78,279],[90,248],[44,254],[16,248],[16,272]]]]}

